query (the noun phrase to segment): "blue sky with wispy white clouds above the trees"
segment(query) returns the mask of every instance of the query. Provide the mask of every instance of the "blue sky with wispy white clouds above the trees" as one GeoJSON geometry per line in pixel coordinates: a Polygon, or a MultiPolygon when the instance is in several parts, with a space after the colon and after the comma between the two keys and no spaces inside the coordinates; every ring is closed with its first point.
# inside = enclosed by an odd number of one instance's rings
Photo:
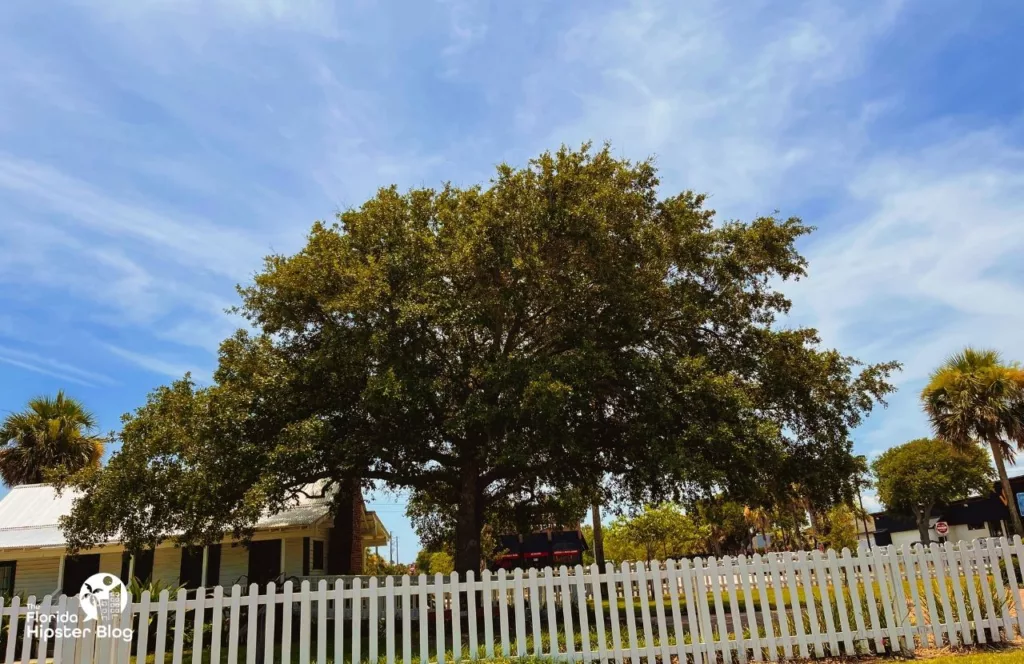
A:
{"type": "MultiPolygon", "coordinates": [[[[3,3],[0,411],[65,387],[114,429],[209,376],[234,285],[314,219],[594,139],[725,217],[818,226],[793,318],[905,364],[856,432],[877,454],[928,432],[916,393],[948,354],[1024,360],[1022,19],[996,0],[3,3]]],[[[411,559],[400,497],[379,511],[411,559]]]]}

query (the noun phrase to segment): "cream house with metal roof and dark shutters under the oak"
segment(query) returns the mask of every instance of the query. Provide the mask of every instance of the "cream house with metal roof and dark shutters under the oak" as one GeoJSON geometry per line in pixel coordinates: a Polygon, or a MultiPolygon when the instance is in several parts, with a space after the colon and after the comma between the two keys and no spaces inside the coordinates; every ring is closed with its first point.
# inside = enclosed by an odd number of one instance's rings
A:
{"type": "Polygon", "coordinates": [[[386,545],[389,539],[387,529],[376,513],[367,511],[356,492],[350,530],[344,525],[335,528],[327,499],[303,498],[261,520],[249,546],[229,538],[202,548],[165,542],[131,556],[112,541],[70,556],[57,523],[70,512],[75,497],[71,491],[57,496],[46,485],[25,485],[0,500],[0,595],[76,594],[85,579],[98,572],[116,574],[126,582],[159,579],[186,587],[240,581],[263,584],[282,575],[361,574],[366,548],[386,545]],[[343,551],[345,547],[350,550],[343,551]]]}

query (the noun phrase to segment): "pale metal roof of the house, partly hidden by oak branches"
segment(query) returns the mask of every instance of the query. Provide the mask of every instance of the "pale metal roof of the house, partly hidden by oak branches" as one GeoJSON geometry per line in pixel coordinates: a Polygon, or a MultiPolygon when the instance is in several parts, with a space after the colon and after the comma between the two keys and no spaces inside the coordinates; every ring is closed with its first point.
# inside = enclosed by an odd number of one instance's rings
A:
{"type": "MultiPolygon", "coordinates": [[[[48,485],[22,485],[0,500],[0,550],[22,548],[62,548],[63,533],[57,526],[60,516],[71,512],[78,492],[67,490],[57,496],[48,485]]],[[[293,507],[267,514],[256,524],[257,530],[309,526],[330,513],[323,497],[300,497],[293,507]]]]}

